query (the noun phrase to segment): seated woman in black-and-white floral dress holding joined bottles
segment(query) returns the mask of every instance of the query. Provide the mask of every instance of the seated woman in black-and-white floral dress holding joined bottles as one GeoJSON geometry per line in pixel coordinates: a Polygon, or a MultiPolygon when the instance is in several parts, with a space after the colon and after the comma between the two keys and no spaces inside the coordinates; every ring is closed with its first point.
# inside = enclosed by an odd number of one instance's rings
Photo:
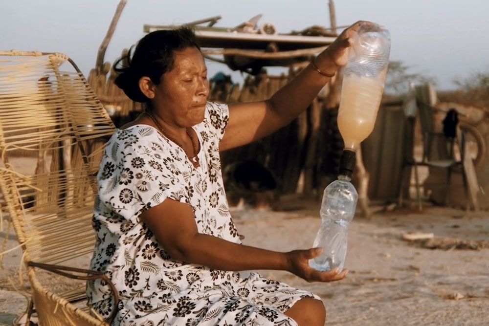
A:
{"type": "Polygon", "coordinates": [[[116,130],[98,173],[91,268],[119,291],[89,282],[89,304],[113,325],[324,325],[320,298],[249,270],[286,270],[309,282],[341,280],[308,261],[320,249],[274,252],[241,243],[219,152],[260,139],[303,112],[346,63],[343,33],[270,99],[207,102],[207,68],[193,31],[156,31],[114,64],[117,86],[146,110],[116,130]],[[123,60],[124,59],[124,60],[123,60]],[[127,66],[120,63],[127,62],[127,66]]]}

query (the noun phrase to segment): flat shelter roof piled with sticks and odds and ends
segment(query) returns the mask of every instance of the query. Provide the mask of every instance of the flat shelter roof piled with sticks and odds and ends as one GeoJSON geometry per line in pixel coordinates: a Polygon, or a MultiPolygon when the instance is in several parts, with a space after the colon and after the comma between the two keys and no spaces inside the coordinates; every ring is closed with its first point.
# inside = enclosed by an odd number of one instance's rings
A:
{"type": "MultiPolygon", "coordinates": [[[[263,67],[289,66],[310,61],[336,38],[322,26],[311,26],[299,32],[277,33],[271,23],[259,25],[262,15],[234,27],[216,27],[220,16],[188,22],[192,26],[204,56],[221,62],[232,70],[258,74],[263,67]],[[207,26],[202,24],[208,23],[207,26]],[[222,59],[217,56],[222,56],[222,59]]],[[[171,30],[181,25],[149,25],[144,32],[171,30]]]]}

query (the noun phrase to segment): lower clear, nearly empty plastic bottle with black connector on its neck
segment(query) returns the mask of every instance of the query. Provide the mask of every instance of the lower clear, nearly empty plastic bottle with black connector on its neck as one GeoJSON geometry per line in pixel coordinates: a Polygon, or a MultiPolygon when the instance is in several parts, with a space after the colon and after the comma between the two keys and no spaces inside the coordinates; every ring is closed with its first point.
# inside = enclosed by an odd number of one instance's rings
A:
{"type": "Polygon", "coordinates": [[[312,268],[321,271],[345,265],[348,225],[355,216],[358,193],[350,182],[355,167],[355,152],[343,151],[338,179],[330,183],[323,193],[321,202],[321,225],[317,231],[313,247],[323,248],[320,256],[309,261],[312,268]]]}

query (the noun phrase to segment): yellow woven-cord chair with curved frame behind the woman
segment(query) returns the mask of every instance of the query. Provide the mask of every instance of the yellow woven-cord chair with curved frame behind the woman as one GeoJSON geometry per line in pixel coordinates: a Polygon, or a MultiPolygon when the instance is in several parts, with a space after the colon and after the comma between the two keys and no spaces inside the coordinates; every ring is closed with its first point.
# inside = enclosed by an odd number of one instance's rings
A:
{"type": "Polygon", "coordinates": [[[114,129],[66,55],[0,51],[2,211],[22,248],[20,277],[27,276],[31,298],[27,325],[33,312],[39,325],[111,322],[90,311],[85,286],[94,278],[110,283],[87,268],[95,175],[114,129]]]}

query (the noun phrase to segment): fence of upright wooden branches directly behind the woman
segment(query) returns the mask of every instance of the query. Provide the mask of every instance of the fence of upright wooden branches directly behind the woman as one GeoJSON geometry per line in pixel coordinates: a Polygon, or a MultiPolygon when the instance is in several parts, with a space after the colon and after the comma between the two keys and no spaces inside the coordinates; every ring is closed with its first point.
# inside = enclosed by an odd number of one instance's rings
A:
{"type": "MultiPolygon", "coordinates": [[[[291,66],[288,73],[279,75],[266,72],[248,75],[243,85],[233,83],[230,78],[211,80],[209,100],[236,103],[267,99],[301,68],[300,65],[291,66]]],[[[120,126],[132,120],[143,108],[115,86],[114,78],[110,65],[106,64],[102,70],[92,69],[88,80],[114,124],[120,126]]],[[[335,84],[332,85],[334,87],[335,84]]],[[[311,106],[288,126],[259,141],[222,152],[223,169],[235,162],[253,160],[271,171],[281,193],[311,193],[317,186],[324,187],[318,184],[326,182],[318,181],[321,180],[320,175],[335,174],[337,158],[331,152],[341,150],[343,146],[340,137],[331,133],[328,136],[326,131],[332,117],[334,120],[334,108],[337,109],[339,103],[333,94],[330,87],[326,87],[311,106]]]]}

